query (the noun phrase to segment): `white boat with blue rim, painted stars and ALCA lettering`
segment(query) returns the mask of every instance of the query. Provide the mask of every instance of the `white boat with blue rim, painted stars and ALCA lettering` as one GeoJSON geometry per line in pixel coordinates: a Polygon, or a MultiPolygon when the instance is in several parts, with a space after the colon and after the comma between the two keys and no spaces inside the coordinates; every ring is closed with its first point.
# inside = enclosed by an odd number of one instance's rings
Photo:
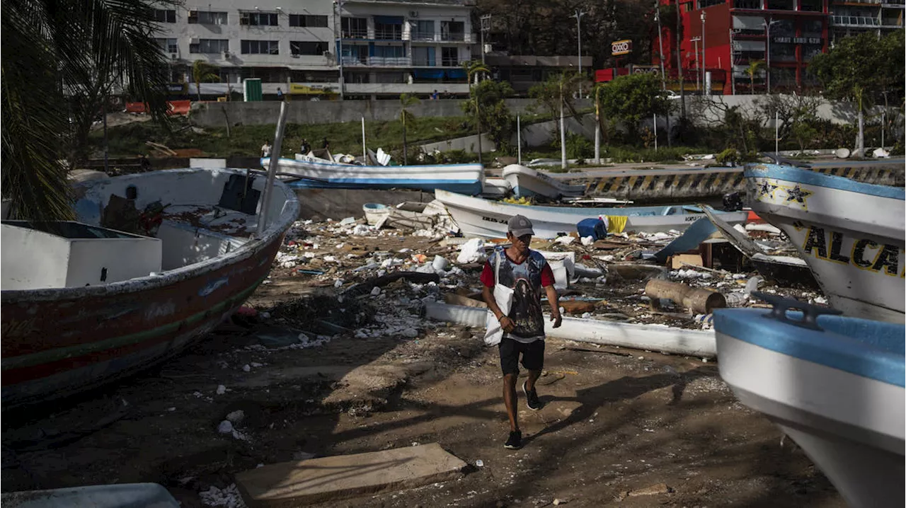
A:
{"type": "Polygon", "coordinates": [[[835,309],[906,322],[906,189],[776,164],[745,176],[752,209],[790,237],[835,309]]]}

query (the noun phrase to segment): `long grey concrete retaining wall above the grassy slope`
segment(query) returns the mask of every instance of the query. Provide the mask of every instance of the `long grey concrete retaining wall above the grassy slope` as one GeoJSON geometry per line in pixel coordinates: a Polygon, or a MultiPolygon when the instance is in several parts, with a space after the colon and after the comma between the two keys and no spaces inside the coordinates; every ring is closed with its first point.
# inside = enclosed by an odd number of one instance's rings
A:
{"type": "MultiPolygon", "coordinates": [[[[461,117],[463,101],[421,101],[410,110],[416,117],[461,117]]],[[[513,114],[522,114],[534,99],[507,99],[513,114]]],[[[589,100],[578,101],[578,107],[591,107],[589,100]]],[[[280,114],[279,101],[200,102],[192,105],[192,121],[203,127],[230,125],[273,125],[280,114]]],[[[290,101],[286,120],[290,123],[318,124],[365,120],[389,121],[400,117],[400,101],[290,101]]]]}

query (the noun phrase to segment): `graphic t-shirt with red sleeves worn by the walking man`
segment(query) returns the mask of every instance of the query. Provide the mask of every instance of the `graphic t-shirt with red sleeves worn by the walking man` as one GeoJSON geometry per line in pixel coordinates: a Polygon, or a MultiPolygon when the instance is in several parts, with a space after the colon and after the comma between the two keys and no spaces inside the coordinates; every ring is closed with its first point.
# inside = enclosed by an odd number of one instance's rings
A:
{"type": "Polygon", "coordinates": [[[528,251],[522,263],[516,263],[506,256],[502,247],[494,250],[487,258],[481,273],[481,282],[493,288],[497,259],[500,259],[500,280],[496,281],[513,290],[513,304],[506,317],[513,320],[516,328],[508,337],[519,342],[534,342],[545,338],[545,316],[541,306],[542,288],[554,285],[554,271],[547,264],[545,256],[528,251]]]}

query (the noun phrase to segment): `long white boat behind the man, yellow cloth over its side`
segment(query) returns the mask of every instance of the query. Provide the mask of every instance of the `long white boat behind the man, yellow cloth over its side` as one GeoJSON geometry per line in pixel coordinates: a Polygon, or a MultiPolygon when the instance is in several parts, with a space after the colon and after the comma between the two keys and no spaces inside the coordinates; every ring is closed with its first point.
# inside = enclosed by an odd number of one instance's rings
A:
{"type": "MultiPolygon", "coordinates": [[[[489,201],[444,190],[435,191],[434,196],[447,206],[463,235],[487,238],[506,237],[506,221],[516,215],[528,217],[535,226],[535,236],[539,238],[554,238],[561,233],[571,233],[576,231],[576,225],[583,219],[598,216],[611,217],[612,223],[625,224],[622,231],[636,233],[656,233],[671,229],[682,231],[705,216],[699,206],[528,206],[489,201]]],[[[730,224],[743,224],[747,218],[746,212],[717,213],[730,224]]]]}

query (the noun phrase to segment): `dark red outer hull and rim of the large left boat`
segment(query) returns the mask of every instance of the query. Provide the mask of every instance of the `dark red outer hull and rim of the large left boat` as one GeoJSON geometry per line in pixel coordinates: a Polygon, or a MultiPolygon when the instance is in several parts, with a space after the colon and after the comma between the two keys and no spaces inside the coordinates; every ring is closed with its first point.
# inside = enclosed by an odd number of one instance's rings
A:
{"type": "MultiPolygon", "coordinates": [[[[178,177],[198,178],[198,171],[216,175],[215,186],[224,177],[245,175],[233,169],[159,171],[88,182],[84,194],[103,199],[130,182],[141,186],[142,178],[151,175],[167,183],[170,174],[172,186],[178,187],[186,183],[178,177]]],[[[264,187],[264,178],[257,179],[255,185],[264,187]]],[[[266,279],[298,215],[291,189],[275,182],[274,195],[278,202],[271,206],[273,216],[264,233],[224,254],[118,283],[0,291],[0,408],[65,397],[120,379],[171,358],[212,331],[266,279]]],[[[76,205],[80,219],[96,219],[93,212],[83,213],[92,209],[83,200],[81,207],[76,205]]],[[[203,226],[193,226],[196,238],[203,238],[198,233],[203,226]]],[[[230,232],[217,235],[227,244],[234,242],[230,232]]]]}

